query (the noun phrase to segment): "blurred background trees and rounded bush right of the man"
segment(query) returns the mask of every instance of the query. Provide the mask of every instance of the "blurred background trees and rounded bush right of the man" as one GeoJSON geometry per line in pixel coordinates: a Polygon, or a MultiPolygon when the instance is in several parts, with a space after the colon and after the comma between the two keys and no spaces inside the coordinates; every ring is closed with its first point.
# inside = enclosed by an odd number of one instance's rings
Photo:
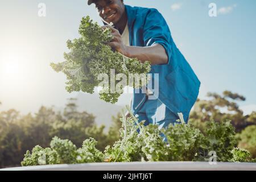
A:
{"type": "Polygon", "coordinates": [[[207,96],[207,100],[197,100],[189,121],[204,133],[205,121],[230,120],[236,129],[238,147],[250,151],[251,157],[256,158],[256,111],[244,115],[238,105],[238,102],[241,103],[246,98],[227,90],[221,95],[208,93],[207,96]]]}

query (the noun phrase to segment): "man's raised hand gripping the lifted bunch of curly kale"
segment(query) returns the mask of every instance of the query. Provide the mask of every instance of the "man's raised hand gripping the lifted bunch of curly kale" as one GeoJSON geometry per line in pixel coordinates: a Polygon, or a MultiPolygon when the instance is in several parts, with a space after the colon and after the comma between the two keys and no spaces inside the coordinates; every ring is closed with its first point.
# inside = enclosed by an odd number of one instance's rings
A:
{"type": "Polygon", "coordinates": [[[102,28],[109,28],[110,30],[112,30],[112,35],[114,38],[112,42],[108,42],[107,44],[113,49],[115,49],[115,51],[120,52],[122,55],[127,55],[127,47],[125,46],[125,44],[123,44],[123,40],[121,38],[119,31],[109,25],[102,26],[102,28]]]}

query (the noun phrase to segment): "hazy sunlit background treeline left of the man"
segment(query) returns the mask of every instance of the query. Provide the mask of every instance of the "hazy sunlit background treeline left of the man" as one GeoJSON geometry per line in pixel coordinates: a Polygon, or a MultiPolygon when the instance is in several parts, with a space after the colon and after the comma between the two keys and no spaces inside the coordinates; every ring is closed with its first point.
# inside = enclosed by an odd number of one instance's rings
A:
{"type": "Polygon", "coordinates": [[[105,126],[97,126],[94,116],[77,111],[75,99],[70,99],[63,112],[42,106],[35,114],[21,115],[11,109],[0,112],[0,168],[20,166],[27,150],[39,144],[49,147],[55,136],[70,139],[76,146],[93,137],[97,148],[104,150],[119,138],[121,123],[113,118],[108,133],[105,126]]]}

